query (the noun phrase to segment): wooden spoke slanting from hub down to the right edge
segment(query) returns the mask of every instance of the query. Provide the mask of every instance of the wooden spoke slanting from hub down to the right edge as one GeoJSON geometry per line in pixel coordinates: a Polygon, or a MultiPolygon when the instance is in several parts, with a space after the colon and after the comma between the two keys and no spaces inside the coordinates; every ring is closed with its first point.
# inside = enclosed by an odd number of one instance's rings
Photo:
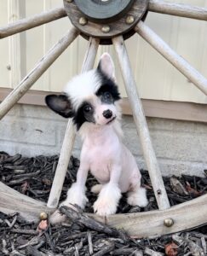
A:
{"type": "Polygon", "coordinates": [[[173,49],[170,48],[155,32],[140,21],[135,26],[135,31],[144,38],[147,43],[151,44],[164,58],[176,67],[184,76],[195,84],[199,90],[203,91],[207,95],[207,79],[204,78],[198,71],[193,68],[187,61],[185,61],[180,55],[176,54],[173,49]]]}

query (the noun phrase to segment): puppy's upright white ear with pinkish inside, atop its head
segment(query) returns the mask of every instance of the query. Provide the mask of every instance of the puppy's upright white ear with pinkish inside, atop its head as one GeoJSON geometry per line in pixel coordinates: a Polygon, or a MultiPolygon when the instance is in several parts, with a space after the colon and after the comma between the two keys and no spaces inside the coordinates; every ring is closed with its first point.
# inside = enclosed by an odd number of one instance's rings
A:
{"type": "Polygon", "coordinates": [[[109,79],[115,80],[114,64],[112,61],[112,57],[108,53],[104,53],[103,55],[101,55],[98,69],[100,69],[102,73],[105,73],[109,79]]]}

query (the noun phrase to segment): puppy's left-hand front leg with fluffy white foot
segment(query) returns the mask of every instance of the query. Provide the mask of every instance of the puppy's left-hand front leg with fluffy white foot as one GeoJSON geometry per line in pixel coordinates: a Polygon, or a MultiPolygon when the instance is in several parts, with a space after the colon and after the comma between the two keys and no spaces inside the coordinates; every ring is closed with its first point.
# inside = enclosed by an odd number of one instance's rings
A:
{"type": "MultiPolygon", "coordinates": [[[[72,183],[72,186],[67,191],[66,200],[61,202],[61,206],[72,207],[72,205],[78,205],[78,207],[84,208],[85,204],[88,201],[88,198],[85,195],[85,182],[88,176],[89,166],[87,163],[80,163],[80,167],[77,172],[77,182],[72,183]]],[[[59,210],[56,210],[50,217],[51,224],[57,224],[64,222],[66,217],[60,213],[59,210]]]]}

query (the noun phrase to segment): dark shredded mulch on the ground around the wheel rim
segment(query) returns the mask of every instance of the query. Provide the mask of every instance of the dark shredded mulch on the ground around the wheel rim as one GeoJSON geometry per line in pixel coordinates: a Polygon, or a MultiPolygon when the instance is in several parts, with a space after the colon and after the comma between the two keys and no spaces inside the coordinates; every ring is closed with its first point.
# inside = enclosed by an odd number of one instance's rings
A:
{"type": "MultiPolygon", "coordinates": [[[[0,181],[32,198],[47,201],[55,175],[58,156],[22,157],[9,156],[0,152],[0,181]]],[[[60,201],[66,198],[66,191],[75,181],[79,160],[71,158],[60,201]]],[[[130,207],[124,195],[118,213],[144,212],[158,209],[147,171],[141,171],[142,185],[147,189],[149,204],[145,208],[130,207]]],[[[170,205],[189,201],[207,192],[205,177],[187,176],[164,177],[170,205]]],[[[96,196],[89,188],[95,184],[89,176],[86,212],[93,212],[96,196]]],[[[62,209],[67,211],[67,209],[62,209]]],[[[12,216],[0,212],[0,255],[207,255],[207,225],[173,236],[156,239],[132,239],[120,230],[97,229],[73,221],[60,226],[47,225],[40,230],[38,224],[28,223],[18,214],[12,216]],[[111,233],[110,233],[111,232],[111,233]]]]}

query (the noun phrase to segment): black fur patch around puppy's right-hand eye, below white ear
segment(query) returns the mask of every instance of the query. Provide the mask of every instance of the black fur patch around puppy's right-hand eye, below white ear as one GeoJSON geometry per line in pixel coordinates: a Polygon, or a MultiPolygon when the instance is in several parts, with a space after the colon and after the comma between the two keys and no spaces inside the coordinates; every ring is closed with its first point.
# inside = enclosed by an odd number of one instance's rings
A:
{"type": "Polygon", "coordinates": [[[112,79],[109,79],[105,73],[101,71],[101,68],[97,68],[97,73],[101,79],[101,87],[96,91],[95,95],[101,98],[101,102],[105,102],[107,104],[112,104],[121,99],[120,94],[118,92],[118,86],[114,83],[112,79]],[[107,101],[106,92],[110,93],[112,96],[112,101],[107,101]]]}

